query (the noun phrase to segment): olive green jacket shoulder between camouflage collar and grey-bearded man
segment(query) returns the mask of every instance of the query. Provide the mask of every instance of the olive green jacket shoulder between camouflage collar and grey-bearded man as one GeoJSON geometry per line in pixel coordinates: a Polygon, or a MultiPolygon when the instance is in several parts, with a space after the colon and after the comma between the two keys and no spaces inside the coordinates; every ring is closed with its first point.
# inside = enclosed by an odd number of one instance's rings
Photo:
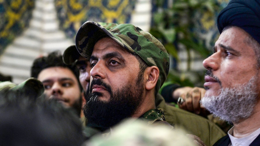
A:
{"type": "Polygon", "coordinates": [[[198,136],[207,146],[212,146],[226,135],[221,128],[208,119],[166,104],[160,94],[157,94],[155,103],[156,108],[163,109],[166,122],[176,129],[181,128],[189,134],[198,136]]]}

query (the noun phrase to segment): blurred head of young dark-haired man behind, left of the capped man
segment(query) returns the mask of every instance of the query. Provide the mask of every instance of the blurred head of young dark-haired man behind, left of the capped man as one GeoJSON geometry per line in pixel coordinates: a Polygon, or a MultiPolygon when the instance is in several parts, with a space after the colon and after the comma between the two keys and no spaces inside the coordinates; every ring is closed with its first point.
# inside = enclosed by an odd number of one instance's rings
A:
{"type": "Polygon", "coordinates": [[[65,107],[75,109],[80,116],[83,93],[75,64],[64,64],[61,53],[54,51],[34,60],[31,76],[43,83],[48,99],[54,98],[65,107]]]}

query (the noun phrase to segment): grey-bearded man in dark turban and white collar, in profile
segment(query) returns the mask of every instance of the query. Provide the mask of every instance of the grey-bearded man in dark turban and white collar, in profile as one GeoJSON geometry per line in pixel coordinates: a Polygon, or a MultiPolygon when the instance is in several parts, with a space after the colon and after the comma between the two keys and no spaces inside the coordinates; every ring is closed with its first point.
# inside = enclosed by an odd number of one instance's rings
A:
{"type": "Polygon", "coordinates": [[[217,18],[221,35],[207,69],[201,102],[233,123],[214,146],[260,145],[260,1],[231,0],[217,18]]]}

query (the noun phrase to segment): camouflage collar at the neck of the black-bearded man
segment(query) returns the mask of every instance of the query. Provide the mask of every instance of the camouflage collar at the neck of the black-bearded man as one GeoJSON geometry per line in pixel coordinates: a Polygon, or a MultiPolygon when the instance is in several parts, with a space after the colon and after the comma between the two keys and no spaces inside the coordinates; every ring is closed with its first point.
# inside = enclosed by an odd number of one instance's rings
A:
{"type": "Polygon", "coordinates": [[[163,109],[151,109],[144,113],[142,116],[139,117],[139,119],[147,121],[148,125],[153,124],[155,121],[165,121],[163,109]]]}

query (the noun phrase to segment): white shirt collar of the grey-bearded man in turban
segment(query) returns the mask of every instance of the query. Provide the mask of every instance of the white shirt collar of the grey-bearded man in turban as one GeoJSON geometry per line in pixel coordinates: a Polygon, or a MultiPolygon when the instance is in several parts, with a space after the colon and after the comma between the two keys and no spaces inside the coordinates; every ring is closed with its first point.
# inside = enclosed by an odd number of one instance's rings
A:
{"type": "Polygon", "coordinates": [[[248,135],[247,137],[236,138],[233,137],[233,127],[230,130],[228,130],[228,136],[231,140],[232,146],[249,146],[259,134],[260,128],[248,135]]]}

